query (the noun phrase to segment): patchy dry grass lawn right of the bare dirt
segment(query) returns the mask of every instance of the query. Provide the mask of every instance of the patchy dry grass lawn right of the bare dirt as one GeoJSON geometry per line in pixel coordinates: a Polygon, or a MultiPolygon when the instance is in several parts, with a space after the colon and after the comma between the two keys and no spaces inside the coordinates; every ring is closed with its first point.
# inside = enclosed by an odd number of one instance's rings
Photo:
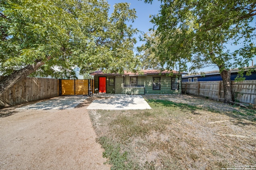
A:
{"type": "Polygon", "coordinates": [[[255,165],[254,109],[216,109],[221,103],[204,98],[196,99],[203,105],[170,101],[175,95],[144,98],[152,109],[89,111],[112,169],[215,170],[255,165]]]}

